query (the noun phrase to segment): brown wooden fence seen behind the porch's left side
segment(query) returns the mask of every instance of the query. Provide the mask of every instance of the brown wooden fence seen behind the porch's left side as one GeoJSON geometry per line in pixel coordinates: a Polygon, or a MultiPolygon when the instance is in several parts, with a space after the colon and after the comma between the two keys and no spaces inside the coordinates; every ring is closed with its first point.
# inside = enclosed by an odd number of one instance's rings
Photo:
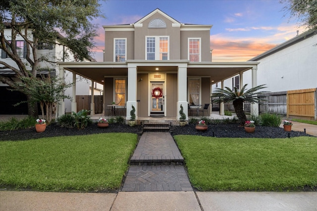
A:
{"type": "MultiPolygon", "coordinates": [[[[103,113],[103,95],[95,95],[95,114],[103,113]]],[[[76,95],[77,111],[82,109],[91,110],[91,95],[76,95]]]]}

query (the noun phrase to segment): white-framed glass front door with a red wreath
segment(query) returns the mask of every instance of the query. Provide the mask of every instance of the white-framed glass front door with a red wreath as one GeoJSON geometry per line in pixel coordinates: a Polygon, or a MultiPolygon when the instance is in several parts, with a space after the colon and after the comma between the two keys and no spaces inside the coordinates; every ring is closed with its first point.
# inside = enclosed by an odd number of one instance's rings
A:
{"type": "Polygon", "coordinates": [[[164,116],[163,87],[163,83],[151,83],[151,116],[164,116]]]}

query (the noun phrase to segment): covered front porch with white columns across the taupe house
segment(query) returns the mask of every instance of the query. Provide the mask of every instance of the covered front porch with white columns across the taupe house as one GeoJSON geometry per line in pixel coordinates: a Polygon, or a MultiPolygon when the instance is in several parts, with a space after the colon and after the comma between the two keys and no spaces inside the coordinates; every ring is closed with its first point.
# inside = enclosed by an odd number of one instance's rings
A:
{"type": "MultiPolygon", "coordinates": [[[[130,120],[132,106],[136,108],[136,120],[144,121],[177,121],[179,120],[180,105],[186,114],[187,120],[190,116],[188,105],[193,103],[189,90],[189,80],[199,81],[197,96],[199,100],[193,104],[211,104],[211,85],[240,75],[243,84],[243,72],[252,70],[252,87],[257,86],[257,65],[259,62],[189,62],[188,60],[173,61],[146,61],[130,60],[125,62],[61,62],[59,63],[60,76],[63,77],[64,70],[73,73],[73,82],[76,75],[80,75],[94,82],[104,85],[104,112],[96,114],[100,117],[107,117],[108,108],[114,103],[121,109],[125,109],[125,120],[130,120]],[[116,80],[124,82],[121,86],[123,91],[118,91],[116,80]],[[159,87],[159,88],[157,88],[159,87]],[[155,96],[153,91],[158,91],[155,96]],[[117,96],[119,96],[119,100],[117,96]],[[156,103],[156,104],[155,104],[156,103]],[[155,108],[155,109],[154,109],[155,108]],[[159,108],[159,109],[158,109],[159,108]],[[159,114],[153,117],[154,113],[159,114]]],[[[76,84],[74,85],[74,87],[76,84]]],[[[75,90],[75,88],[73,89],[75,90]]],[[[92,91],[92,95],[94,95],[92,91]]],[[[73,91],[73,99],[76,93],[73,91]]],[[[93,99],[93,98],[92,98],[93,99]]],[[[94,102],[91,102],[94,108],[94,102]]],[[[209,106],[208,117],[213,118],[212,106],[209,106]]],[[[63,102],[58,104],[57,117],[64,112],[63,102]]],[[[72,101],[72,111],[76,111],[76,101],[72,101]]],[[[251,108],[253,114],[258,113],[258,106],[251,108]]],[[[92,110],[93,116],[95,111],[92,110]]],[[[224,105],[220,104],[220,119],[224,117],[224,105]]],[[[206,116],[206,115],[205,115],[206,116]]],[[[111,117],[110,117],[111,118],[111,117]]]]}

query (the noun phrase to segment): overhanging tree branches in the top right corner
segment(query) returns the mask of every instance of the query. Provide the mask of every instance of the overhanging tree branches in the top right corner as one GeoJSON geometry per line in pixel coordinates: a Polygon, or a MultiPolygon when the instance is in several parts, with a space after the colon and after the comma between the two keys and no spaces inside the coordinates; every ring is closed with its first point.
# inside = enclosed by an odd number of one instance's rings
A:
{"type": "MultiPolygon", "coordinates": [[[[298,19],[300,25],[317,31],[317,0],[280,0],[284,11],[298,19]]],[[[286,14],[285,14],[286,15],[286,14]]]]}

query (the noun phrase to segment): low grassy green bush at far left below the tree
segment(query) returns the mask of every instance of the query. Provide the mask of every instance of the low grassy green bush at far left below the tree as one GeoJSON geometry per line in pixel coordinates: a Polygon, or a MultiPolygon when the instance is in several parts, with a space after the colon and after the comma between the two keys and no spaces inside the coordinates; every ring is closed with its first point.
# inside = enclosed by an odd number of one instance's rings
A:
{"type": "Polygon", "coordinates": [[[36,120],[34,117],[28,116],[22,120],[17,120],[14,117],[11,117],[6,122],[0,122],[0,130],[16,130],[16,129],[26,129],[34,127],[36,120]]]}

